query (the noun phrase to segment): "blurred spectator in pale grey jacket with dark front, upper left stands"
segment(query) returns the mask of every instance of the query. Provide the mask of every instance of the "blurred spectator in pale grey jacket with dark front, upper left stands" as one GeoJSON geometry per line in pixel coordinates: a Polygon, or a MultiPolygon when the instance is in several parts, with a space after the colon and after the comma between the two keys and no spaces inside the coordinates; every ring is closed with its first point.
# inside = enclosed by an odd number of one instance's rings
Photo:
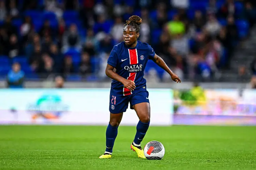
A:
{"type": "Polygon", "coordinates": [[[69,30],[64,33],[62,41],[64,51],[70,47],[81,49],[81,40],[75,24],[71,24],[69,30]]]}

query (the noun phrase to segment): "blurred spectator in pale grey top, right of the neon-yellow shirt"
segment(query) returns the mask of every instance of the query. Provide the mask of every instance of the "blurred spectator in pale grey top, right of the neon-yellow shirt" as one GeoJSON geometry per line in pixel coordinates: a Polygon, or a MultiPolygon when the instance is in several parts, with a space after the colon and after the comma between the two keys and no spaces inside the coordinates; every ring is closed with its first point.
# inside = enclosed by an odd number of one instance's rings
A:
{"type": "Polygon", "coordinates": [[[207,33],[214,37],[219,33],[219,30],[221,30],[221,24],[219,24],[218,20],[213,15],[209,15],[209,20],[204,28],[207,33]]]}

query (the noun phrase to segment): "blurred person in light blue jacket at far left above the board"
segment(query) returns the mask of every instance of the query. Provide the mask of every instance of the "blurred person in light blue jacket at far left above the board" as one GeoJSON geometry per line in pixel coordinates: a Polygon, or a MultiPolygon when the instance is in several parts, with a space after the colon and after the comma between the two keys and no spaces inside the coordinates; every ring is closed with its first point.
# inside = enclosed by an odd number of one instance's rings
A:
{"type": "Polygon", "coordinates": [[[9,88],[23,88],[24,72],[20,70],[19,63],[12,65],[12,70],[7,75],[7,85],[9,88]]]}

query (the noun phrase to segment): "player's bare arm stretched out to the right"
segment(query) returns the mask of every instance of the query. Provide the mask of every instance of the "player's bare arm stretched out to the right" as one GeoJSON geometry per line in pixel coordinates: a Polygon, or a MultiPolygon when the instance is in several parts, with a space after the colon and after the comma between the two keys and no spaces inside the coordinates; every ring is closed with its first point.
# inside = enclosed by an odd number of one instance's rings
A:
{"type": "Polygon", "coordinates": [[[173,81],[177,82],[177,83],[181,83],[181,79],[179,78],[178,75],[176,75],[165,63],[165,61],[163,61],[163,59],[155,54],[154,58],[152,58],[152,60],[158,65],[160,66],[162,69],[164,69],[166,72],[168,72],[168,74],[170,74],[171,78],[173,81]]]}

